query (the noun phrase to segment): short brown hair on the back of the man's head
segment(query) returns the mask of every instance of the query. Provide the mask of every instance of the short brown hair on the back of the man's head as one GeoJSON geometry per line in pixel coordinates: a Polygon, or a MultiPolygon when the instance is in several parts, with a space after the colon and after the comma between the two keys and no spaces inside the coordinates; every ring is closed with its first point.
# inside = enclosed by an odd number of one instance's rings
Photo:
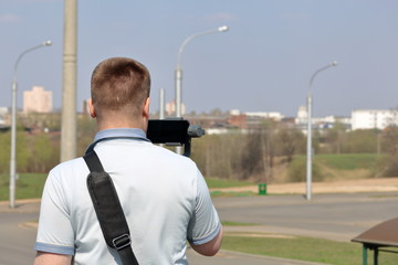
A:
{"type": "Polygon", "coordinates": [[[111,57],[93,71],[91,94],[98,117],[124,108],[138,115],[149,92],[149,72],[133,59],[111,57]]]}

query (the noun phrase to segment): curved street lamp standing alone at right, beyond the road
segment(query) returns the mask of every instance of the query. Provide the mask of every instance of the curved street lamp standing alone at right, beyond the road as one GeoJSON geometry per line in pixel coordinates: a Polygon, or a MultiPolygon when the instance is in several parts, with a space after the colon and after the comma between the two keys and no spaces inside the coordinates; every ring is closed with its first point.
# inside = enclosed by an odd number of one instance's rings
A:
{"type": "Polygon", "coordinates": [[[329,67],[337,66],[337,62],[334,61],[322,68],[315,71],[315,73],[311,76],[310,85],[308,85],[308,96],[307,96],[307,161],[306,161],[306,199],[311,200],[312,194],[312,95],[311,95],[311,87],[312,83],[314,82],[315,76],[329,67]]]}

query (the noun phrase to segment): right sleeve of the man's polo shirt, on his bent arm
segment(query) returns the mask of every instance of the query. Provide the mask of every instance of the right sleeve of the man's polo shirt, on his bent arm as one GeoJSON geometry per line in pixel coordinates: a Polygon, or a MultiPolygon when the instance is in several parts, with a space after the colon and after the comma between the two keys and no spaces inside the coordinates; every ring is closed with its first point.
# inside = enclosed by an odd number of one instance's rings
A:
{"type": "Polygon", "coordinates": [[[205,178],[198,170],[196,206],[188,225],[187,239],[193,245],[202,245],[213,240],[220,230],[220,219],[212,204],[205,178]]]}

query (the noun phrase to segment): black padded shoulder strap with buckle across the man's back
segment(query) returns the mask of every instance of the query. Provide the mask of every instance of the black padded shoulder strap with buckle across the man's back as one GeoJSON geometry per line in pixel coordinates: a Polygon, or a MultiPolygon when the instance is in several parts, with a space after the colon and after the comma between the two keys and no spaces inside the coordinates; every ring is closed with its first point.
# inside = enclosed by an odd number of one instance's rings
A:
{"type": "Polygon", "coordinates": [[[91,171],[87,188],[106,243],[118,252],[124,265],[138,265],[130,246],[126,218],[109,174],[104,171],[94,150],[83,158],[91,171]]]}

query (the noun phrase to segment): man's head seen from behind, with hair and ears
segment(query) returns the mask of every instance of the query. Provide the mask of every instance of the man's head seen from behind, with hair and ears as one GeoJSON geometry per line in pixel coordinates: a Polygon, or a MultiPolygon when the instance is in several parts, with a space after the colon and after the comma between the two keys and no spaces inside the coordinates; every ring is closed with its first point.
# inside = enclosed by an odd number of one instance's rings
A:
{"type": "Polygon", "coordinates": [[[143,64],[126,57],[107,59],[92,75],[91,114],[100,127],[130,127],[126,121],[142,123],[143,115],[149,116],[149,91],[150,76],[143,64]]]}

